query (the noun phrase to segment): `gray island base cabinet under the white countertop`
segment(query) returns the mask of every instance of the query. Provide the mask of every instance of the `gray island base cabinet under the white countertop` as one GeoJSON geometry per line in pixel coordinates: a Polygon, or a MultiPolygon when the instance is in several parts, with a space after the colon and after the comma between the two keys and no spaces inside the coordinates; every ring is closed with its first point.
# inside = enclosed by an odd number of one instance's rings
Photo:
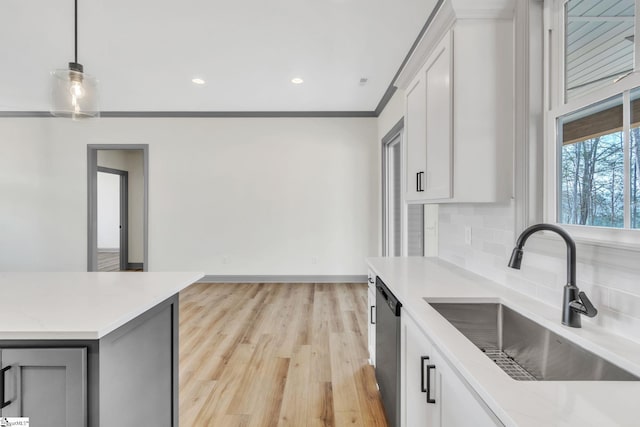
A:
{"type": "Polygon", "coordinates": [[[177,427],[178,295],[99,340],[0,340],[0,362],[1,416],[33,427],[177,427]]]}

